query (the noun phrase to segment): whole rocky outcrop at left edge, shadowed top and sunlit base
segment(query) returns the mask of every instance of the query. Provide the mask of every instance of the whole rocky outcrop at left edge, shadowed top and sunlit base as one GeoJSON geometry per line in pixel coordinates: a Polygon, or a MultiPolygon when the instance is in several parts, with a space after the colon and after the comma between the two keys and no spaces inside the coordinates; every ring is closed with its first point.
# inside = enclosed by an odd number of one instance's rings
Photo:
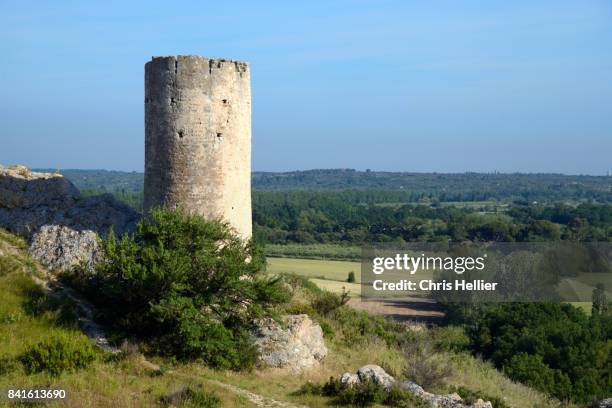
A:
{"type": "Polygon", "coordinates": [[[97,255],[96,235],[133,230],[140,215],[110,194],[82,197],[60,174],[0,166],[0,226],[30,241],[30,254],[60,269],[97,255]]]}

